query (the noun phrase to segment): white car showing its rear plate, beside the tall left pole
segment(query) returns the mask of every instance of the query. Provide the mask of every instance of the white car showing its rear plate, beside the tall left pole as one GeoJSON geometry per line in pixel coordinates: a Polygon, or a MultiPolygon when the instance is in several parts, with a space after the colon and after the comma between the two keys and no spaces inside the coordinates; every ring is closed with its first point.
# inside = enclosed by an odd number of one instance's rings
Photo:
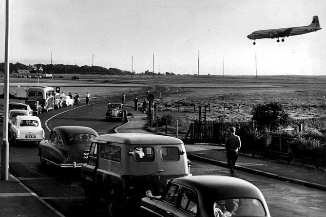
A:
{"type": "Polygon", "coordinates": [[[16,145],[18,142],[37,142],[44,139],[44,130],[37,116],[16,116],[9,128],[9,142],[16,145]]]}

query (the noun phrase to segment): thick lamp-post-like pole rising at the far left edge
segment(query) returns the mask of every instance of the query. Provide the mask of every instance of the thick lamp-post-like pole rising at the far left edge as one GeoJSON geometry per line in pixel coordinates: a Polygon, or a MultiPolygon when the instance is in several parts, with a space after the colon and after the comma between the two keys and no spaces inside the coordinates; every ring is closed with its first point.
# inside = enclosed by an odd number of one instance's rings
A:
{"type": "Polygon", "coordinates": [[[8,142],[8,103],[9,103],[9,43],[10,43],[10,0],[6,0],[6,30],[4,48],[4,89],[3,89],[3,140],[1,145],[0,179],[9,179],[9,142],[8,142]]]}

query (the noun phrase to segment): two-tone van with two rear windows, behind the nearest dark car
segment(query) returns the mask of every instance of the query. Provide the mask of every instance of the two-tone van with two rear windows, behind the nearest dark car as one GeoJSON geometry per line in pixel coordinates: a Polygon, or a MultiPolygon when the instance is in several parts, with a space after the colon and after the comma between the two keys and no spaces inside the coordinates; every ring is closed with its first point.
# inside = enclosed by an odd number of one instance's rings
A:
{"type": "Polygon", "coordinates": [[[139,209],[147,189],[163,190],[166,181],[191,176],[180,139],[145,133],[113,133],[96,137],[82,166],[85,198],[103,199],[111,217],[139,209]]]}

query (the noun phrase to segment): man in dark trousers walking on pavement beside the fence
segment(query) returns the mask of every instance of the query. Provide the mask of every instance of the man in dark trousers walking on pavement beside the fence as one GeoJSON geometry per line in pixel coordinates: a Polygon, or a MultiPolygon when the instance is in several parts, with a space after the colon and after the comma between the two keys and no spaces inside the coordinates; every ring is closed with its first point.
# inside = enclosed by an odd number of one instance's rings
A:
{"type": "Polygon", "coordinates": [[[235,127],[230,128],[230,133],[231,135],[227,139],[225,146],[227,149],[227,159],[230,166],[230,172],[233,174],[235,162],[238,159],[239,150],[241,147],[241,140],[239,136],[235,135],[235,127]]]}

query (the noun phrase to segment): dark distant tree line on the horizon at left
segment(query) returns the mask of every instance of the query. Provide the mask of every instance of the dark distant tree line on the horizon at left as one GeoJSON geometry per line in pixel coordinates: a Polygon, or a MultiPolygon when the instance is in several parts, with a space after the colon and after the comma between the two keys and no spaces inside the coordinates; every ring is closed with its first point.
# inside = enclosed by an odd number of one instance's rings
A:
{"type": "MultiPolygon", "coordinates": [[[[31,73],[39,73],[39,69],[43,68],[43,73],[55,73],[55,74],[73,74],[73,73],[80,73],[80,74],[88,74],[88,73],[97,73],[97,74],[122,74],[122,75],[130,75],[131,72],[123,71],[116,68],[104,68],[100,66],[77,66],[77,65],[63,65],[63,64],[35,64],[33,65],[35,68],[31,67],[30,65],[24,65],[22,63],[10,63],[9,65],[9,72],[17,72],[18,70],[29,70],[31,73]]],[[[0,63],[0,71],[4,72],[4,63],[0,63]]]]}

